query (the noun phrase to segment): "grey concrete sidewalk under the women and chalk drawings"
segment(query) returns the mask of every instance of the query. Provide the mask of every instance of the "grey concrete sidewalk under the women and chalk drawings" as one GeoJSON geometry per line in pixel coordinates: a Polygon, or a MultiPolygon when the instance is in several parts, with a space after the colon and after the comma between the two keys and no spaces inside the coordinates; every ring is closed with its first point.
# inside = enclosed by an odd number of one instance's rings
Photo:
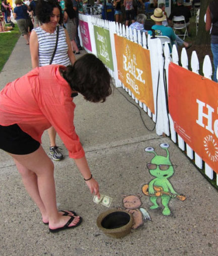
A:
{"type": "MultiPolygon", "coordinates": [[[[21,37],[0,74],[0,89],[30,70],[29,46],[21,37]]],[[[73,230],[49,233],[14,162],[1,150],[0,255],[218,255],[217,190],[168,137],[159,137],[144,127],[138,109],[120,92],[128,97],[122,88],[115,88],[103,104],[88,103],[81,95],[76,97],[75,127],[100,192],[113,198],[110,209],[123,208],[123,195],[140,193],[141,207],[152,221],[121,239],[104,235],[96,219],[108,208],[92,201],[93,195],[58,138],[57,144],[64,148],[65,155],[65,160],[55,163],[59,209],[75,210],[83,223],[73,230]],[[166,157],[161,143],[170,145],[175,173],[169,180],[179,194],[187,197],[185,201],[171,199],[170,216],[162,215],[159,199],[160,207],[151,210],[152,203],[141,190],[154,178],[146,167],[154,154],[144,148],[151,146],[157,155],[166,157]]],[[[143,111],[142,117],[152,129],[154,123],[143,111]]],[[[42,141],[48,152],[46,132],[42,141]]]]}

